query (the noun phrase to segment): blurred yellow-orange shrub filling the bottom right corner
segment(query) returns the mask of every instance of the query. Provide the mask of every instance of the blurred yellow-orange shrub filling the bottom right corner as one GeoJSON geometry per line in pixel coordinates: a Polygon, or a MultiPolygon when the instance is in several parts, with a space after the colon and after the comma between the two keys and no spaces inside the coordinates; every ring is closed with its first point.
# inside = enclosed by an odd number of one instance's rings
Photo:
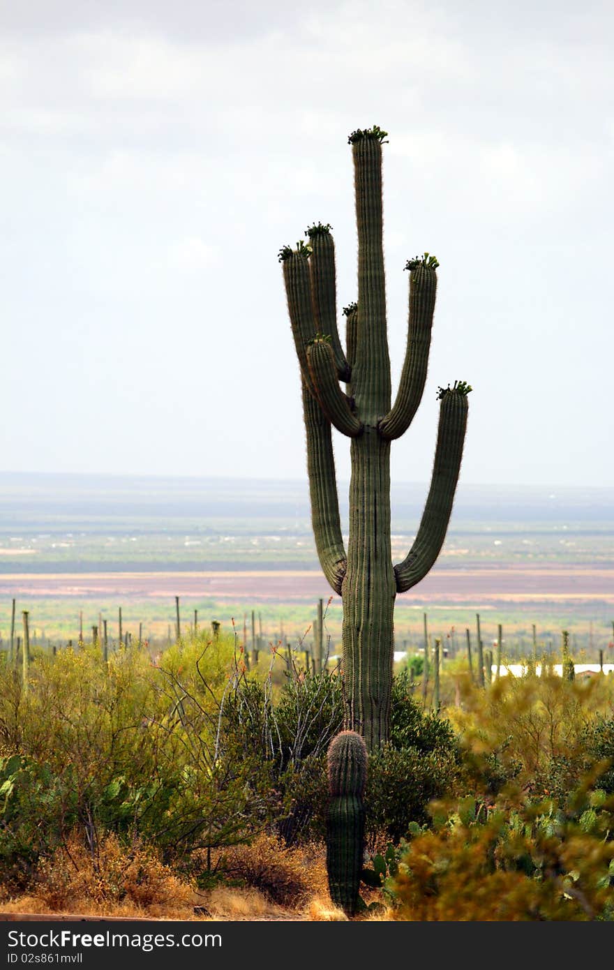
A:
{"type": "Polygon", "coordinates": [[[483,820],[473,799],[410,835],[387,881],[408,921],[614,919],[614,815],[586,787],[554,800],[496,806],[483,820]]]}

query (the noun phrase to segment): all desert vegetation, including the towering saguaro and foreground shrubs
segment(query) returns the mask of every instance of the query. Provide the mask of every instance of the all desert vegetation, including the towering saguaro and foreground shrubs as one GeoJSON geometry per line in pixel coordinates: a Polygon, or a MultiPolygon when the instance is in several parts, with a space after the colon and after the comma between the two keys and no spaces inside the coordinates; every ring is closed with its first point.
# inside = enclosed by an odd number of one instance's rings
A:
{"type": "Polygon", "coordinates": [[[199,626],[197,610],[186,630],[176,596],[175,636],[169,626],[162,649],[142,623],[138,637],[126,631],[119,609],[112,649],[102,614],[89,640],[81,613],[76,642],[36,653],[27,610],[15,642],[14,599],[0,670],[7,906],[154,918],[242,907],[246,919],[614,919],[614,678],[603,651],[587,671],[567,629],[555,657],[552,644],[538,651],[533,625],[531,649],[512,657],[501,622],[486,646],[479,614],[473,651],[469,628],[466,650],[454,628],[447,647],[425,613],[422,650],[395,666],[395,600],[442,550],[472,388],[437,387],[431,485],[395,565],[390,448],[425,388],[439,263],[425,252],[404,267],[407,340],[393,403],[387,132],[357,129],[348,142],[358,299],[343,310],[345,350],[330,224],[278,252],[313,540],[341,599],[340,652],[324,649],[322,599],[311,649],[302,640],[293,650],[283,636],[267,648],[253,611],[251,649],[246,616],[242,636],[234,620],[230,633],[218,620],[199,626]],[[333,428],[350,439],[347,536],[333,428]]]}

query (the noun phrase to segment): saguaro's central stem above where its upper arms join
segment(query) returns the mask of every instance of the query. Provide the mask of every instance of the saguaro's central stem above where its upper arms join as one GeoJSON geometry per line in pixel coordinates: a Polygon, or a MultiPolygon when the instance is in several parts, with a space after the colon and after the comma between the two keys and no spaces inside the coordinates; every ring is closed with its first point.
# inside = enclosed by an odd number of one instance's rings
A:
{"type": "Polygon", "coordinates": [[[376,425],[390,409],[390,357],[386,335],[386,286],[383,254],[381,143],[354,132],[349,137],[354,160],[358,229],[358,327],[352,393],[365,424],[376,425]]]}

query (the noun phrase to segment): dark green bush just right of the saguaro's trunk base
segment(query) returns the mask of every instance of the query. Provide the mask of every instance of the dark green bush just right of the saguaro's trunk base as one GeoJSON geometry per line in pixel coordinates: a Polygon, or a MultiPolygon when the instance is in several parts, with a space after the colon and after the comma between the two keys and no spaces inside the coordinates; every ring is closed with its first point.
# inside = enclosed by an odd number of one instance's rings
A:
{"type": "Polygon", "coordinates": [[[367,773],[367,845],[372,850],[382,834],[399,843],[412,822],[429,819],[434,798],[452,794],[459,781],[454,755],[444,749],[422,752],[386,745],[369,756],[367,773]]]}

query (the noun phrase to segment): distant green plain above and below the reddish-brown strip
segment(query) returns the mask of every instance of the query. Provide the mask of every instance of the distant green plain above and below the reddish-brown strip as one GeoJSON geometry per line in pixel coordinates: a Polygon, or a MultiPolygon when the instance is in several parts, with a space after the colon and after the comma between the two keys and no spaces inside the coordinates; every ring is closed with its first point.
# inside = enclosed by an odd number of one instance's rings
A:
{"type": "MultiPolygon", "coordinates": [[[[425,486],[393,488],[393,554],[402,559],[419,522],[425,486]]],[[[341,518],[347,514],[345,487],[339,487],[341,518]]],[[[461,484],[452,521],[436,568],[501,566],[571,566],[612,568],[614,489],[502,488],[461,484]]],[[[180,573],[205,570],[291,570],[319,568],[310,528],[307,481],[243,481],[87,475],[0,475],[0,579],[16,574],[63,575],[98,572],[180,573]]],[[[60,587],[61,588],[61,587],[60,587]]],[[[30,611],[34,642],[77,639],[108,621],[117,636],[117,610],[123,630],[164,645],[175,635],[175,600],[126,595],[87,598],[71,593],[67,580],[60,593],[31,597],[5,583],[0,600],[0,635],[10,635],[12,598],[17,627],[21,610],[30,611]],[[81,621],[80,621],[81,614],[81,621]]],[[[323,598],[328,597],[325,582],[323,598]]],[[[478,589],[475,591],[479,592],[478,589]]],[[[263,642],[290,640],[308,644],[316,601],[271,602],[246,598],[237,579],[237,596],[182,598],[182,623],[198,610],[201,626],[219,620],[225,629],[234,617],[243,639],[251,637],[251,611],[263,642]]],[[[428,605],[397,599],[395,624],[399,651],[420,649],[423,613],[429,630],[449,646],[472,636],[475,612],[482,619],[486,644],[503,626],[512,656],[526,653],[532,625],[544,649],[556,647],[561,630],[570,631],[576,651],[591,657],[607,650],[612,639],[611,599],[550,600],[534,603],[471,601],[428,605]],[[452,632],[454,628],[454,632],[452,632]],[[452,643],[454,641],[454,643],[452,643]]],[[[340,601],[326,619],[333,652],[339,650],[340,601]]],[[[19,630],[16,630],[18,634],[19,630]]]]}

